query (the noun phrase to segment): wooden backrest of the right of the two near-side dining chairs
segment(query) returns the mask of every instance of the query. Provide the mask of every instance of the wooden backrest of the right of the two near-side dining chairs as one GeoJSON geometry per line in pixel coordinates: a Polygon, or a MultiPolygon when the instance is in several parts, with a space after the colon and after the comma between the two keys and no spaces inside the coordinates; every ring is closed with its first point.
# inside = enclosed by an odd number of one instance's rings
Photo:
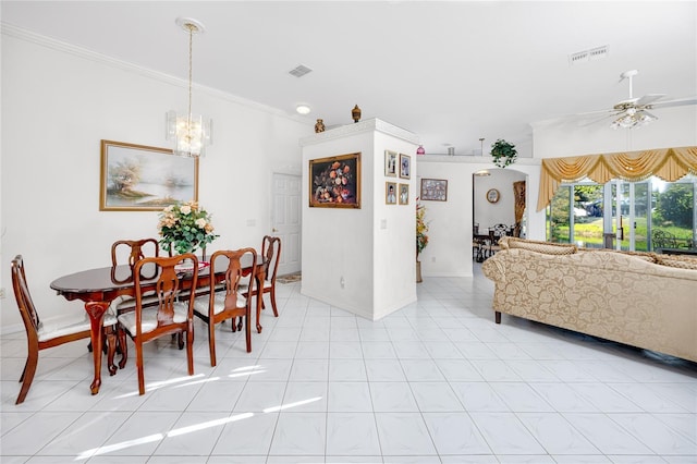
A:
{"type": "MultiPolygon", "coordinates": [[[[257,251],[254,248],[220,249],[210,257],[210,274],[221,273],[221,268],[225,268],[225,309],[237,308],[237,294],[241,293],[240,285],[254,282],[257,268],[257,251]],[[227,258],[227,259],[223,259],[227,258]],[[250,269],[247,273],[245,269],[250,269]],[[248,278],[248,280],[247,280],[248,278]]],[[[219,282],[220,284],[220,282],[219,282]]],[[[245,286],[243,291],[247,291],[245,286]]],[[[215,300],[216,282],[210,281],[210,307],[215,300]]],[[[252,298],[247,298],[247,305],[252,298]]]]}

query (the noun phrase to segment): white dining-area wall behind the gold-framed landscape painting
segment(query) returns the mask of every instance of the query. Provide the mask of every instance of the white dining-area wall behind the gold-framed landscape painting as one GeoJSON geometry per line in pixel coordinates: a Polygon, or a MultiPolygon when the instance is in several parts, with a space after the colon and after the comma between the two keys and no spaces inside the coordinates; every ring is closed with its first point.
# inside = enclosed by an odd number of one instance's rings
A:
{"type": "MultiPolygon", "coordinates": [[[[57,297],[51,281],[109,266],[114,240],[157,235],[156,211],[99,211],[100,139],[167,147],[164,112],[185,106],[186,85],[3,29],[2,332],[21,328],[9,272],[15,255],[24,256],[44,318],[81,316],[82,304],[57,297]]],[[[198,192],[220,234],[209,249],[260,247],[270,232],[271,173],[301,173],[297,141],[313,124],[196,87],[194,111],[215,123],[198,192]]]]}

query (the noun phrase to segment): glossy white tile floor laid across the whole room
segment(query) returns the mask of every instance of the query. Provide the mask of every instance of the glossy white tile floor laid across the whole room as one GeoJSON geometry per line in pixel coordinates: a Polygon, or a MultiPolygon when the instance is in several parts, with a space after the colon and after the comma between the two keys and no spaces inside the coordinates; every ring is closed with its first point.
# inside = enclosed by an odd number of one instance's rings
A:
{"type": "MultiPolygon", "coordinates": [[[[2,337],[2,463],[696,463],[697,364],[503,316],[492,284],[429,279],[378,321],[279,284],[253,352],[196,322],[90,395],[85,342],[42,352],[14,405],[25,340],[2,337]]],[[[12,309],[11,302],[7,309],[12,309]]],[[[697,337],[697,334],[696,334],[697,337]]],[[[131,350],[133,353],[133,350],[131,350]]]]}

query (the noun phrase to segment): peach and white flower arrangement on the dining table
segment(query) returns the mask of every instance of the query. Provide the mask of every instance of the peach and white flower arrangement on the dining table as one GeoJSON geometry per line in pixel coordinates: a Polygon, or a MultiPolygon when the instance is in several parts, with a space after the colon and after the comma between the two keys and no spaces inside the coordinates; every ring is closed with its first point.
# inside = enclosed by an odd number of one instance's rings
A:
{"type": "Polygon", "coordinates": [[[206,244],[220,236],[213,233],[210,215],[194,200],[164,208],[157,228],[162,237],[160,245],[168,252],[174,247],[179,254],[205,248],[206,244]]]}

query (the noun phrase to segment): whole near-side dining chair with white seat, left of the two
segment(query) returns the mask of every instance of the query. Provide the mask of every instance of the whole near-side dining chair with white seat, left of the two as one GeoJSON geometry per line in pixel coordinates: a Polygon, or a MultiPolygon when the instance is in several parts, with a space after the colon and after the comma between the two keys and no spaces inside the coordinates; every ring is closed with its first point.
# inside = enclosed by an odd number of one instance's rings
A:
{"type": "Polygon", "coordinates": [[[125,335],[135,344],[136,369],[138,371],[138,393],[145,394],[145,377],[143,369],[143,344],[161,337],[178,334],[179,349],[183,349],[186,335],[186,361],[188,375],[194,375],[194,298],[180,301],[181,293],[186,288],[195,289],[198,281],[198,259],[193,253],[175,256],[155,256],[143,258],[135,264],[135,310],[123,313],[119,319],[119,343],[124,358],[127,356],[125,335]],[[184,261],[192,262],[191,268],[184,261]],[[157,280],[142,276],[144,266],[157,269],[157,280]],[[142,283],[142,281],[147,281],[142,283]],[[186,281],[186,285],[184,285],[186,281]],[[144,285],[147,285],[144,288],[144,285]],[[154,288],[157,297],[155,306],[144,305],[145,289],[154,288]]]}

